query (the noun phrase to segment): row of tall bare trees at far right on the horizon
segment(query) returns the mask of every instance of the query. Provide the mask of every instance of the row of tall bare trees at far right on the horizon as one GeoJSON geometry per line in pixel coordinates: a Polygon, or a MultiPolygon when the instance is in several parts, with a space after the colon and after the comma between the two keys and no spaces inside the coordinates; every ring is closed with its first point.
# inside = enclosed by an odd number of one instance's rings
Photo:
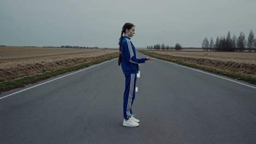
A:
{"type": "Polygon", "coordinates": [[[256,37],[254,37],[253,31],[251,30],[248,35],[248,39],[246,40],[245,33],[241,32],[239,37],[237,38],[236,35],[233,35],[231,38],[230,32],[225,38],[219,36],[216,38],[214,43],[213,38],[211,37],[210,42],[205,37],[202,41],[202,49],[208,51],[249,51],[249,52],[256,52],[256,37]]]}

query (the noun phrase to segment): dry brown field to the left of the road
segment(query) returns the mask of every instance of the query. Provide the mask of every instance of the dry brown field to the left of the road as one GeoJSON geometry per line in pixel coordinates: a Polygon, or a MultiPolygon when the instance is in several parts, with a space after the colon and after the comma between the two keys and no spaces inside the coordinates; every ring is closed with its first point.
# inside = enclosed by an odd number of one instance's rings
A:
{"type": "Polygon", "coordinates": [[[118,56],[118,50],[49,47],[0,47],[0,81],[118,56]]]}

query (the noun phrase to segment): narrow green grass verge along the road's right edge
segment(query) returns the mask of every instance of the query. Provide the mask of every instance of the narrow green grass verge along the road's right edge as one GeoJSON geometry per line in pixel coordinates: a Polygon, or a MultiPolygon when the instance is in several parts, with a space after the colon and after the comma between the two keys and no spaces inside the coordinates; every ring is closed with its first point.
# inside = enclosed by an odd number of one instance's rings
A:
{"type": "Polygon", "coordinates": [[[199,64],[191,64],[191,63],[187,63],[187,62],[183,62],[183,61],[176,61],[174,59],[165,58],[165,57],[161,57],[161,56],[155,56],[154,54],[152,54],[150,52],[147,52],[147,51],[139,51],[139,52],[143,53],[144,55],[148,55],[150,57],[155,57],[155,58],[158,58],[158,59],[162,59],[164,61],[173,62],[173,63],[185,65],[185,66],[188,66],[188,67],[191,67],[191,68],[196,68],[196,69],[209,71],[209,72],[214,73],[214,74],[228,76],[228,77],[231,77],[233,79],[243,80],[243,81],[246,81],[248,83],[252,83],[252,84],[256,85],[256,79],[254,77],[251,77],[251,76],[231,73],[231,72],[224,71],[224,70],[217,70],[217,69],[205,67],[205,66],[202,66],[202,65],[199,65],[199,64]]]}

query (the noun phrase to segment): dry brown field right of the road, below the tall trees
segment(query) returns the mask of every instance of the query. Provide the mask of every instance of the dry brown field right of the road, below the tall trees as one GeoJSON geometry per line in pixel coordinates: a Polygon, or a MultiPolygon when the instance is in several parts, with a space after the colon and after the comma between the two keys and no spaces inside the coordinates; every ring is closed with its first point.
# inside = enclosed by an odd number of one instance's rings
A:
{"type": "Polygon", "coordinates": [[[256,77],[256,52],[156,51],[156,56],[256,77]]]}

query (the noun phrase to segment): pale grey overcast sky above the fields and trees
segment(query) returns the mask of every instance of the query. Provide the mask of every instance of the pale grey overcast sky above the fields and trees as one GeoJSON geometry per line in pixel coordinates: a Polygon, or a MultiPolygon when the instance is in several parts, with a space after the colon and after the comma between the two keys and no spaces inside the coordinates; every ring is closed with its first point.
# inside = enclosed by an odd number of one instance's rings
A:
{"type": "Polygon", "coordinates": [[[0,45],[119,47],[125,22],[135,47],[210,39],[252,29],[256,0],[0,0],[0,45]]]}

